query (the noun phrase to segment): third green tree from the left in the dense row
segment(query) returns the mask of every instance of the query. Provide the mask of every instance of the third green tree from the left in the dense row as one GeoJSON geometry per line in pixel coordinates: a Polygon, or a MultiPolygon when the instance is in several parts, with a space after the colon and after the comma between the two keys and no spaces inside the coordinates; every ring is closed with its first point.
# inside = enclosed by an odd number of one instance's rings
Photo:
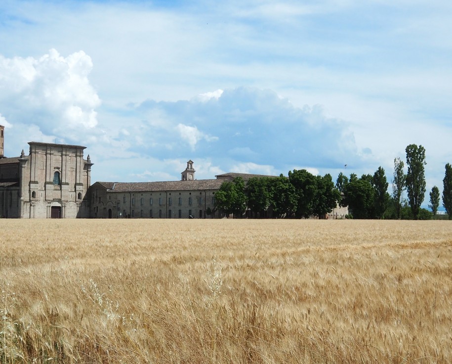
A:
{"type": "Polygon", "coordinates": [[[289,179],[282,174],[278,178],[269,179],[271,205],[273,213],[279,218],[292,216],[297,208],[297,194],[289,179]]]}

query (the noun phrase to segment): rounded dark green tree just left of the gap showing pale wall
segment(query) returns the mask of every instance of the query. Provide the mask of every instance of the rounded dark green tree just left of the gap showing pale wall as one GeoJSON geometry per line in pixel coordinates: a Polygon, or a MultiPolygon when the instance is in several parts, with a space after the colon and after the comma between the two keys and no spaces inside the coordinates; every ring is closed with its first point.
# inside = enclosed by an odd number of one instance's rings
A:
{"type": "Polygon", "coordinates": [[[334,182],[330,174],[324,177],[317,176],[317,190],[313,204],[313,214],[317,215],[319,219],[325,217],[340,201],[340,192],[334,186],[334,182]]]}

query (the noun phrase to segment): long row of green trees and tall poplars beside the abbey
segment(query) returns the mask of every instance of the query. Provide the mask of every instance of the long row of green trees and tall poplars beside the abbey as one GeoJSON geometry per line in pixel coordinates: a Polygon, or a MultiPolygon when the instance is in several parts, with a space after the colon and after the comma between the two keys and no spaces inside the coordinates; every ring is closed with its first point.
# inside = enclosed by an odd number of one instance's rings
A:
{"type": "MultiPolygon", "coordinates": [[[[288,177],[253,177],[247,183],[238,177],[225,181],[215,194],[213,211],[222,210],[234,217],[279,218],[325,218],[337,205],[348,206],[347,218],[355,219],[431,219],[436,215],[440,192],[433,186],[430,192],[431,212],[421,208],[425,188],[425,149],[422,145],[410,144],[405,149],[407,168],[404,162],[394,159],[392,194],[388,192],[385,171],[380,166],[373,175],[361,178],[354,173],[350,177],[339,173],[336,183],[331,175],[314,176],[307,170],[293,170],[288,177]],[[408,198],[403,198],[407,191],[408,198]]],[[[452,166],[447,163],[443,180],[443,206],[452,219],[452,166]]]]}

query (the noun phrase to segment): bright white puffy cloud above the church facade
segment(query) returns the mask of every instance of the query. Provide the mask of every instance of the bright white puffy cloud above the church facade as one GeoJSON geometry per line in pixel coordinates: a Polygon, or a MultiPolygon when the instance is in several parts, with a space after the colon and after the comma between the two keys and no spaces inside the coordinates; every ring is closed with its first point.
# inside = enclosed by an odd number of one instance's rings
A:
{"type": "Polygon", "coordinates": [[[37,126],[44,135],[74,135],[97,125],[100,99],[90,85],[91,58],[55,49],[39,58],[0,55],[0,112],[12,125],[37,126]]]}

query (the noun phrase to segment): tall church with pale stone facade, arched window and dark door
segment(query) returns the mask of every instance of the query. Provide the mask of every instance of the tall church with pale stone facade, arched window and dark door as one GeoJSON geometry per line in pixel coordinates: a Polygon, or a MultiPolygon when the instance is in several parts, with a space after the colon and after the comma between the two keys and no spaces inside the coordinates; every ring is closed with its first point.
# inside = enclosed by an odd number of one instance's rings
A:
{"type": "Polygon", "coordinates": [[[0,215],[87,218],[92,163],[84,146],[29,142],[30,154],[0,159],[0,215]]]}

